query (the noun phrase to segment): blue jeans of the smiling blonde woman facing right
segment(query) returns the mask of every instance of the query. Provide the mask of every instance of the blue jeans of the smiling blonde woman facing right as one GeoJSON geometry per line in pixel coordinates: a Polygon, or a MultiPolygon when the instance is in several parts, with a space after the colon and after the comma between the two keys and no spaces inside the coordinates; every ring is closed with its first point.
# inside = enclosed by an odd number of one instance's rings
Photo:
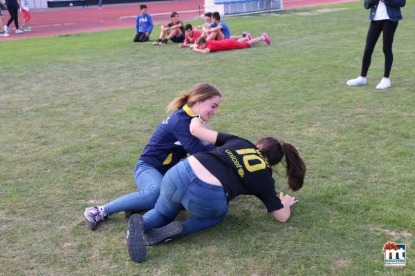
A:
{"type": "Polygon", "coordinates": [[[163,175],[154,166],[138,160],[134,179],[138,192],[123,195],[104,205],[107,215],[128,210],[149,210],[160,195],[163,175]]]}

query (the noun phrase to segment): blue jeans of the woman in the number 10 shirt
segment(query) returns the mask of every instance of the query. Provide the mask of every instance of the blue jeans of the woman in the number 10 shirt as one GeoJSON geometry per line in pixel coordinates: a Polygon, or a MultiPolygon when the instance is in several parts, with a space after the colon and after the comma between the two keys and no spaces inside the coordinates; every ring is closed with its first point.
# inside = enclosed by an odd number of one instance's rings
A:
{"type": "Polygon", "coordinates": [[[182,221],[182,235],[210,228],[228,212],[223,187],[201,181],[187,159],[169,169],[163,177],[156,206],[144,215],[144,231],[169,224],[183,207],[192,215],[182,221]]]}

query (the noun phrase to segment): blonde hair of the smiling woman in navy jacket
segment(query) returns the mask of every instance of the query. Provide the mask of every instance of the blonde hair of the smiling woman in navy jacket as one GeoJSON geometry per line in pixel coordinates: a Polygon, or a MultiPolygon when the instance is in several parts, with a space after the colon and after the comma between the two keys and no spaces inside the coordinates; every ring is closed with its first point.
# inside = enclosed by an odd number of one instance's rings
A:
{"type": "Polygon", "coordinates": [[[183,108],[185,104],[191,108],[198,101],[205,101],[214,96],[222,97],[221,92],[219,92],[216,87],[212,86],[212,84],[201,82],[196,84],[189,92],[174,98],[167,106],[167,112],[183,108]]]}

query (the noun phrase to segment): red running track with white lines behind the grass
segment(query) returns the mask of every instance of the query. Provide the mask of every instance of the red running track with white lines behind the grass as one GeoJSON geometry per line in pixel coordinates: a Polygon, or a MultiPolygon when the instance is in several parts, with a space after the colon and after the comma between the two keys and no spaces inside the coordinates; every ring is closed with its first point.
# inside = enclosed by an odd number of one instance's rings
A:
{"type": "MultiPolygon", "coordinates": [[[[313,6],[324,6],[333,3],[345,3],[358,0],[283,0],[284,10],[295,8],[306,8],[313,6]]],[[[191,21],[203,14],[203,3],[201,0],[187,1],[157,1],[147,2],[149,14],[153,17],[154,24],[168,22],[169,14],[177,11],[182,21],[191,21]],[[199,6],[200,5],[200,6],[199,6]],[[199,12],[200,9],[200,12],[199,12]]],[[[10,39],[24,39],[28,37],[45,37],[59,34],[71,34],[80,32],[96,32],[100,30],[111,30],[120,28],[134,28],[136,15],[139,13],[141,3],[128,3],[118,5],[107,5],[102,9],[97,6],[89,8],[50,8],[47,10],[32,10],[32,20],[29,26],[33,32],[15,34],[14,22],[10,25],[10,37],[0,37],[0,41],[10,39]]],[[[7,11],[3,10],[3,20],[9,19],[7,11]]],[[[19,12],[19,23],[23,17],[19,12]]],[[[158,32],[156,30],[156,32],[158,32]]],[[[133,34],[131,34],[131,37],[133,34]]]]}

